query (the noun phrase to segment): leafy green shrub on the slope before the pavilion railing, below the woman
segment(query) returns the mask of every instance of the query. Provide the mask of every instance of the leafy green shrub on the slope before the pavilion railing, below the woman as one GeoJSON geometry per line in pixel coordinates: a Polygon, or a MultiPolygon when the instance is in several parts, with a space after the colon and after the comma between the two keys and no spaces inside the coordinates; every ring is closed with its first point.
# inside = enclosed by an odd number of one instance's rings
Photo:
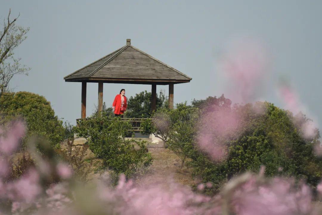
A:
{"type": "Polygon", "coordinates": [[[90,150],[103,160],[105,169],[131,177],[152,163],[146,142],[126,139],[131,125],[118,117],[82,120],[75,132],[87,139],[90,150]]]}

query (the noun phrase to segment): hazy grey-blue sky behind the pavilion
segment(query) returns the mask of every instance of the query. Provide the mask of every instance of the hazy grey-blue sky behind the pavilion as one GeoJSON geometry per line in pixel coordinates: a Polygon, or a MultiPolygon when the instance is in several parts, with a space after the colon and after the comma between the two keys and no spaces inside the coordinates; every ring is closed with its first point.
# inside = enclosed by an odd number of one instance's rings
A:
{"type": "MultiPolygon", "coordinates": [[[[261,41],[269,66],[255,100],[284,108],[276,93],[280,80],[298,94],[304,113],[322,125],[322,1],[17,1],[0,0],[0,18],[20,13],[17,24],[30,27],[15,57],[32,69],[10,83],[17,91],[43,95],[63,121],[81,117],[81,83],[63,77],[131,44],[192,77],[175,84],[174,103],[208,96],[234,98],[218,59],[236,38],[261,41]]],[[[150,85],[104,83],[111,106],[120,89],[134,96],[150,85]]],[[[157,86],[157,92],[167,86],[157,86]]],[[[98,84],[87,84],[87,115],[98,102],[98,84]]],[[[240,101],[232,101],[239,102],[240,101]]]]}

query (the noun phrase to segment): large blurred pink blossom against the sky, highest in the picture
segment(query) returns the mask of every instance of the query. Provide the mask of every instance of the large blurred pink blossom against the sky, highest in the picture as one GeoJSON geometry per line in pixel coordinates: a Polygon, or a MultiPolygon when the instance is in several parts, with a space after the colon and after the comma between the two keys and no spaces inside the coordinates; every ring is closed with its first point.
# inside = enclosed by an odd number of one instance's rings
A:
{"type": "Polygon", "coordinates": [[[268,62],[266,48],[258,39],[232,40],[219,61],[221,72],[228,79],[229,97],[238,103],[254,101],[269,74],[268,62]]]}

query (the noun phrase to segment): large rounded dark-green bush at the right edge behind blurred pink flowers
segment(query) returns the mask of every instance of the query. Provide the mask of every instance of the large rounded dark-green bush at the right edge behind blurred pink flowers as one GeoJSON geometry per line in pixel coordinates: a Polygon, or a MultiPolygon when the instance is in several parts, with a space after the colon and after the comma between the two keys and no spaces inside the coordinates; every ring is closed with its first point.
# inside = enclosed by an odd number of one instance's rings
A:
{"type": "Polygon", "coordinates": [[[194,144],[189,163],[194,175],[211,181],[219,189],[232,176],[245,171],[258,172],[266,167],[267,176],[295,176],[316,187],[322,176],[322,162],[314,155],[313,141],[306,141],[293,123],[293,116],[271,103],[261,103],[265,112],[258,114],[254,106],[236,106],[242,112],[243,123],[237,135],[223,140],[228,146],[227,157],[222,162],[213,161],[194,144]],[[237,137],[237,138],[235,138],[237,137]]]}

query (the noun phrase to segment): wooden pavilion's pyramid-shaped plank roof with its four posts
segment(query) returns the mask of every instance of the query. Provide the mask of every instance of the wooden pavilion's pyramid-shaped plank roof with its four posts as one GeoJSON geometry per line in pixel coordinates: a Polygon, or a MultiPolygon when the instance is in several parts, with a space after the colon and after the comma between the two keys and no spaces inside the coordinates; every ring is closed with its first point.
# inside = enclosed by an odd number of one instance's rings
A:
{"type": "Polygon", "coordinates": [[[65,82],[81,82],[81,118],[86,118],[87,82],[98,83],[98,110],[103,107],[103,83],[151,84],[151,109],[156,110],[156,85],[169,85],[169,108],[173,109],[173,86],[188,83],[189,76],[131,45],[118,50],[64,77],[65,82]]]}

